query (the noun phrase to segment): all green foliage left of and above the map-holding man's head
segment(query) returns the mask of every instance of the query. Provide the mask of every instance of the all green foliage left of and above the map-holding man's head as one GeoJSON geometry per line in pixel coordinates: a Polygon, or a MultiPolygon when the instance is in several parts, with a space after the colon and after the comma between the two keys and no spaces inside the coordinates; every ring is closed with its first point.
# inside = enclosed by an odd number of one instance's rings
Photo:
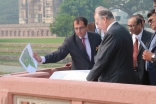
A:
{"type": "Polygon", "coordinates": [[[55,22],[50,24],[51,33],[61,37],[71,35],[74,31],[74,18],[82,16],[89,22],[93,22],[95,8],[99,5],[105,6],[102,0],[64,0],[60,5],[60,12],[55,22]]]}

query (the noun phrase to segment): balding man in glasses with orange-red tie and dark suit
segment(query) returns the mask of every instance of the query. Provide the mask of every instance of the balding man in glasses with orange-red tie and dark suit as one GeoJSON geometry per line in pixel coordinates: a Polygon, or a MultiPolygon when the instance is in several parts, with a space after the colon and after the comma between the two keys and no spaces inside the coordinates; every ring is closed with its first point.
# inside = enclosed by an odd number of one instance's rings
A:
{"type": "MultiPolygon", "coordinates": [[[[144,19],[140,18],[140,15],[133,15],[128,20],[128,29],[132,34],[133,45],[137,42],[137,54],[135,57],[135,51],[133,51],[133,66],[135,74],[138,78],[139,84],[149,85],[148,71],[145,70],[145,60],[142,58],[143,51],[145,50],[137,38],[140,38],[142,42],[148,46],[152,33],[144,30],[144,19]]],[[[135,47],[135,46],[133,46],[135,47]]]]}

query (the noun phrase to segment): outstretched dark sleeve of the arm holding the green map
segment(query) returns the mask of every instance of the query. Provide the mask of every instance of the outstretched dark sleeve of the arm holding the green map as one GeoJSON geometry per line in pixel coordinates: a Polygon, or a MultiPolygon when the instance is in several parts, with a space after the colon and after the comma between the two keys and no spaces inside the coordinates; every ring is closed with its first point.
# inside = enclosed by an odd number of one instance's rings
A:
{"type": "Polygon", "coordinates": [[[69,41],[65,39],[64,43],[58,48],[57,51],[45,56],[45,63],[55,63],[64,59],[69,54],[69,41]]]}

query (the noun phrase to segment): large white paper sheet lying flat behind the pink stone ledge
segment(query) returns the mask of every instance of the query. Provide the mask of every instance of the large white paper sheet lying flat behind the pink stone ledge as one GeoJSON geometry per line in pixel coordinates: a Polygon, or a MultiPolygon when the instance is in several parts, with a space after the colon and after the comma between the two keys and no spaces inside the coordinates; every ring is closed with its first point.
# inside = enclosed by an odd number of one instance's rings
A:
{"type": "Polygon", "coordinates": [[[87,81],[86,77],[89,72],[90,70],[56,71],[50,76],[50,79],[87,81]]]}

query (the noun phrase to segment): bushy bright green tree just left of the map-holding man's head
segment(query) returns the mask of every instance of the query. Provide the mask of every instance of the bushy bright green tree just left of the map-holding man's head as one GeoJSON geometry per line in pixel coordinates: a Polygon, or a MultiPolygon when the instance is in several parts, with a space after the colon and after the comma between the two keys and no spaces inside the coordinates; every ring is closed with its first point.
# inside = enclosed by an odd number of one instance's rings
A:
{"type": "Polygon", "coordinates": [[[59,13],[55,21],[50,24],[50,32],[60,37],[71,35],[73,33],[74,18],[74,16],[70,16],[69,14],[59,13]]]}

